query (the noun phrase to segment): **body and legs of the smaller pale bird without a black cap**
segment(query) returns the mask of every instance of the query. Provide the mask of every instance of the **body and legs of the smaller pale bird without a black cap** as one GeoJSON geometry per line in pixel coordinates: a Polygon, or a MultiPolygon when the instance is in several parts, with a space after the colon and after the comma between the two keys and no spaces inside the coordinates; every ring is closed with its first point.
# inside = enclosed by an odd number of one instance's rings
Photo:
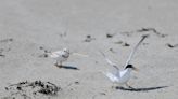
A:
{"type": "Polygon", "coordinates": [[[69,49],[63,48],[62,51],[52,52],[50,53],[50,57],[56,60],[55,66],[62,68],[62,62],[66,61],[69,57],[69,49]]]}

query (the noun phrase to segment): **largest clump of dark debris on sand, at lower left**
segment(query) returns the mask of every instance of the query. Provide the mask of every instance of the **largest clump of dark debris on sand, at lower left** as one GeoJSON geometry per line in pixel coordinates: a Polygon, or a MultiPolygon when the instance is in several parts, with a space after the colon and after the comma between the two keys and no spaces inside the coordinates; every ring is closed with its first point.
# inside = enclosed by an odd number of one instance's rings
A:
{"type": "Polygon", "coordinates": [[[7,91],[10,93],[11,97],[21,96],[21,97],[34,97],[36,95],[46,95],[53,96],[56,95],[62,88],[56,86],[51,82],[42,82],[40,80],[34,82],[18,82],[16,84],[11,84],[4,87],[7,91]]]}

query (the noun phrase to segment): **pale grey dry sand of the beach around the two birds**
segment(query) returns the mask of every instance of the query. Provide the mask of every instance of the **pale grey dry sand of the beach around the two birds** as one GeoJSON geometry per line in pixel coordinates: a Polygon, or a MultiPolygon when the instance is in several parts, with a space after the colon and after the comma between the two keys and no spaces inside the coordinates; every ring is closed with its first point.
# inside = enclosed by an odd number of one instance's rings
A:
{"type": "Polygon", "coordinates": [[[177,0],[0,0],[0,12],[2,99],[25,97],[5,90],[10,84],[39,80],[62,90],[55,96],[38,94],[27,99],[178,98],[177,0]],[[148,91],[112,88],[112,82],[101,73],[111,67],[99,51],[122,68],[144,33],[150,38],[131,61],[140,72],[134,72],[130,83],[136,88],[168,87],[148,91]],[[91,41],[85,41],[87,36],[91,41]],[[64,62],[79,70],[59,69],[54,60],[43,56],[44,49],[63,47],[89,55],[71,56],[64,62]]]}

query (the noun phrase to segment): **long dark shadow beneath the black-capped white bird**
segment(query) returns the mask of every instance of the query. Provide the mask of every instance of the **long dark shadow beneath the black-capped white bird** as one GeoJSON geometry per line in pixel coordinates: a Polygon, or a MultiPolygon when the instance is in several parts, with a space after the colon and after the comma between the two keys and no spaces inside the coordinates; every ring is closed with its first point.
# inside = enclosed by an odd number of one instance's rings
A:
{"type": "Polygon", "coordinates": [[[168,86],[156,86],[156,87],[147,87],[147,88],[125,88],[125,87],[117,86],[115,88],[120,90],[127,90],[127,91],[150,91],[150,90],[156,90],[166,87],[168,86]]]}

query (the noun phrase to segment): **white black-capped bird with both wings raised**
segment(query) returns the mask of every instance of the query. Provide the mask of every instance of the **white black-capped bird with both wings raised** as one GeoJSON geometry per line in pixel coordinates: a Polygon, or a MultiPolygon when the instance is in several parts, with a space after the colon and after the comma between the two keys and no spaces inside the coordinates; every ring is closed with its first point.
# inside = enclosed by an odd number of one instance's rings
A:
{"type": "Polygon", "coordinates": [[[124,70],[119,70],[117,65],[112,62],[105,55],[104,53],[101,52],[101,54],[104,56],[105,60],[107,61],[109,65],[113,66],[115,71],[114,72],[106,72],[104,73],[113,83],[117,83],[119,85],[125,84],[126,86],[128,86],[129,88],[132,88],[131,86],[129,86],[128,81],[131,77],[131,71],[132,70],[138,70],[137,68],[135,68],[132,65],[129,65],[136,49],[138,48],[138,46],[141,44],[141,42],[147,38],[148,36],[143,36],[142,39],[139,41],[139,43],[135,46],[135,48],[131,51],[125,66],[124,66],[124,70]]]}

